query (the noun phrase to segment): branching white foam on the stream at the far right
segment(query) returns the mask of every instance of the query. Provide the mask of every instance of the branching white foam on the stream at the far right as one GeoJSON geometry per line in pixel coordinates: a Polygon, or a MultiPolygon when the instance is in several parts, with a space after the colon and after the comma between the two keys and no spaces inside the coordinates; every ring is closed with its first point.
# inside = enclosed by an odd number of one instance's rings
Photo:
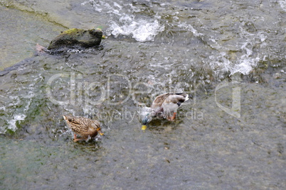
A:
{"type": "Polygon", "coordinates": [[[216,52],[216,55],[210,55],[208,57],[210,60],[209,65],[211,65],[215,72],[231,72],[231,75],[240,72],[241,74],[247,75],[258,65],[260,60],[263,60],[259,55],[253,57],[252,50],[255,45],[260,45],[260,47],[267,46],[266,40],[268,39],[268,36],[263,32],[248,33],[248,31],[240,27],[239,38],[240,41],[245,40],[245,43],[238,49],[241,52],[244,52],[244,54],[236,60],[230,60],[228,47],[224,47],[218,43],[217,38],[214,38],[212,35],[206,36],[206,34],[199,32],[189,23],[180,23],[178,27],[189,30],[198,38],[203,38],[210,47],[219,51],[219,53],[216,52]]]}

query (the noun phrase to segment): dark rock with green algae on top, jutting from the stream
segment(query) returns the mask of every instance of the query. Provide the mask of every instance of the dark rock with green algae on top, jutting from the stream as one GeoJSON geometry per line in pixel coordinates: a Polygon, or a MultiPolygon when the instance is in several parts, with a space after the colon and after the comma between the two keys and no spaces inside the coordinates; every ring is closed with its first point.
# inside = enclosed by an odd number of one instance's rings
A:
{"type": "Polygon", "coordinates": [[[48,50],[58,50],[63,47],[92,47],[100,45],[102,31],[98,29],[82,30],[73,28],[66,30],[51,41],[48,50]]]}

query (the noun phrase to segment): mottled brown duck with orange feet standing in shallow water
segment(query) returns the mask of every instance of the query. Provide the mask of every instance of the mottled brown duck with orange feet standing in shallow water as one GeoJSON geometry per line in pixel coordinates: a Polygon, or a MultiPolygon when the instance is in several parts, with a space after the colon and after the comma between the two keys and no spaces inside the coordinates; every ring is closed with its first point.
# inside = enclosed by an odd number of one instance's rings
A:
{"type": "Polygon", "coordinates": [[[88,137],[94,138],[99,131],[100,135],[104,135],[100,129],[100,123],[90,118],[63,116],[68,126],[73,130],[74,142],[78,140],[87,140],[88,137]],[[82,138],[77,138],[80,135],[82,138]]]}

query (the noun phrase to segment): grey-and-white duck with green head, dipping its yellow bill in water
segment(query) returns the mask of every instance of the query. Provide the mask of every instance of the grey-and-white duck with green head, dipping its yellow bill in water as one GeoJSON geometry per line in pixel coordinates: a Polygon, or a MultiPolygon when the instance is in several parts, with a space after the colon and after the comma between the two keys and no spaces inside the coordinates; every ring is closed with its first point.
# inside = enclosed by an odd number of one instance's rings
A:
{"type": "Polygon", "coordinates": [[[145,108],[142,113],[142,130],[147,128],[147,123],[152,118],[166,118],[168,121],[174,121],[176,118],[176,110],[184,101],[189,99],[189,95],[185,93],[166,93],[157,96],[150,108],[145,108]]]}

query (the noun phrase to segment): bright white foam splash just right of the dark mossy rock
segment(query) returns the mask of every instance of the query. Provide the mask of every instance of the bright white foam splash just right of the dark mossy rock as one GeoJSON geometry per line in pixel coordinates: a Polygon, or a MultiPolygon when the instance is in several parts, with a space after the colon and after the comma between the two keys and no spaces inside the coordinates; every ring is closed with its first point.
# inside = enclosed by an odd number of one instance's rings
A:
{"type": "Polygon", "coordinates": [[[153,41],[155,36],[164,30],[164,25],[160,24],[157,16],[137,18],[135,13],[139,13],[138,7],[132,4],[119,4],[112,2],[108,4],[102,1],[85,1],[82,5],[90,4],[95,11],[107,13],[110,16],[107,35],[115,38],[121,36],[134,38],[139,42],[153,41]]]}

